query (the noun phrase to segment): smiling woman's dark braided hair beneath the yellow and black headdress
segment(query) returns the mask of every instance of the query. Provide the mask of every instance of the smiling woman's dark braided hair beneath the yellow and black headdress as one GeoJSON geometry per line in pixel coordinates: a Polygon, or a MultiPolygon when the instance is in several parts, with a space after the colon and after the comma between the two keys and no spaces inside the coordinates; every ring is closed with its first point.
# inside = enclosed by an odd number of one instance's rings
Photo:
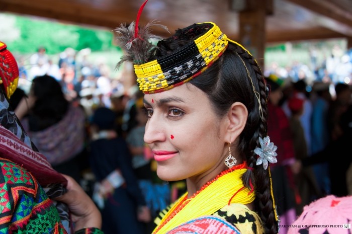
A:
{"type": "MultiPolygon", "coordinates": [[[[149,60],[169,54],[194,40],[180,39],[177,34],[159,41],[158,49],[149,60]]],[[[218,60],[189,83],[208,96],[219,117],[225,116],[234,102],[246,106],[248,118],[239,136],[237,151],[252,170],[247,170],[242,180],[249,189],[251,183],[254,185],[255,209],[264,223],[266,233],[277,233],[269,170],[264,170],[262,165],[255,165],[257,155],[253,151],[259,145],[259,137],[267,136],[267,87],[259,66],[247,51],[229,43],[218,60]]]]}

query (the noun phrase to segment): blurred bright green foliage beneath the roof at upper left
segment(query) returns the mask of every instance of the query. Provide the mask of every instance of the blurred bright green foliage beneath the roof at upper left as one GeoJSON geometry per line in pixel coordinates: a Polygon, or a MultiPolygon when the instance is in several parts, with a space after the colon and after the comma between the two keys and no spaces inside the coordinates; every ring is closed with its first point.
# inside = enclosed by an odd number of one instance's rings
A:
{"type": "MultiPolygon", "coordinates": [[[[14,22],[7,27],[20,32],[12,37],[0,34],[0,40],[7,43],[15,53],[34,53],[41,46],[47,49],[48,54],[60,53],[67,47],[75,50],[91,48],[92,51],[119,50],[113,45],[114,35],[109,30],[84,28],[11,14],[0,14],[0,17],[5,22],[10,20],[14,22]]],[[[0,26],[0,29],[3,31],[2,27],[0,26]]]]}

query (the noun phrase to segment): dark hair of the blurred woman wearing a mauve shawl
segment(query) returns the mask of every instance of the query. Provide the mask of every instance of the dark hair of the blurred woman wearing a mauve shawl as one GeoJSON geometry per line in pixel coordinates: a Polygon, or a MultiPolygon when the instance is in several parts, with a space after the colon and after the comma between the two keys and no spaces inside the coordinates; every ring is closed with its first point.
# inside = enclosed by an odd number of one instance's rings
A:
{"type": "Polygon", "coordinates": [[[31,131],[50,127],[65,116],[68,101],[62,93],[61,85],[52,76],[35,77],[31,92],[36,97],[29,118],[31,131]]]}

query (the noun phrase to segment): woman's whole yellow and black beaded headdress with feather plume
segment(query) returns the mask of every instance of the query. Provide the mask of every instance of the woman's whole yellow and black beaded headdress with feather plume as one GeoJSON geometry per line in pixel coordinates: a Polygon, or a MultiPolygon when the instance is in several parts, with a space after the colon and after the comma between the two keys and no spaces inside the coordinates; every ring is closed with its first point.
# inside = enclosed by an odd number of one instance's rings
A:
{"type": "Polygon", "coordinates": [[[156,24],[151,22],[145,27],[138,25],[139,16],[146,2],[138,12],[136,23],[132,22],[128,27],[121,25],[115,30],[120,34],[118,42],[126,52],[119,63],[126,60],[134,63],[137,83],[144,94],[162,92],[190,81],[211,66],[229,43],[246,50],[237,42],[228,39],[216,24],[206,22],[179,29],[171,36],[172,39],[193,39],[193,41],[172,53],[149,61],[149,55],[157,50],[156,46],[148,42],[150,37],[155,37],[150,34],[149,28],[156,24]]]}

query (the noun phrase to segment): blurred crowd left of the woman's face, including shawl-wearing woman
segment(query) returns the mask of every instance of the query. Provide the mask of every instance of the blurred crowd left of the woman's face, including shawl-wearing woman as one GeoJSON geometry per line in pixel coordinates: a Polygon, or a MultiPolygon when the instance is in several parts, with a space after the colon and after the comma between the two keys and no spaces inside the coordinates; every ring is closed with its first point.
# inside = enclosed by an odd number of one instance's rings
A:
{"type": "Polygon", "coordinates": [[[11,105],[53,168],[95,201],[105,233],[151,233],[154,218],[186,187],[156,176],[133,66],[125,64],[116,80],[103,60],[90,62],[90,54],[67,48],[54,63],[38,48],[27,64],[19,62],[11,105]]]}

